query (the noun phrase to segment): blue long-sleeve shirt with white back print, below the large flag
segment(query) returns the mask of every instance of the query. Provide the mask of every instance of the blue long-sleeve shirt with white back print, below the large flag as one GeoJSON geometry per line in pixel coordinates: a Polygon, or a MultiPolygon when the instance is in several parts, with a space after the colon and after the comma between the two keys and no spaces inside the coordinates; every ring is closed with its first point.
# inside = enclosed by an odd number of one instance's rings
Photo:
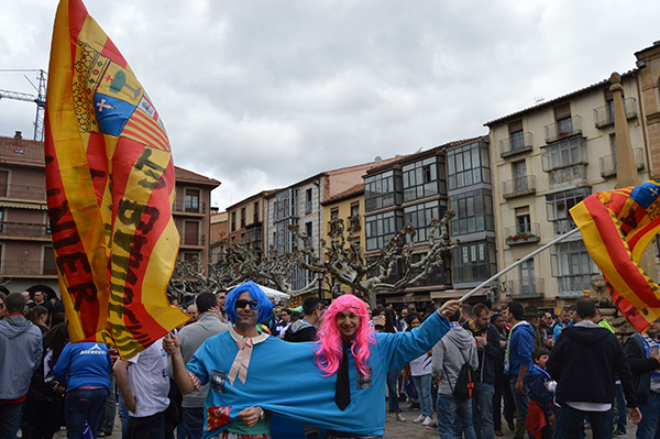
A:
{"type": "Polygon", "coordinates": [[[73,391],[80,386],[110,388],[110,352],[103,343],[67,343],[57,359],[53,374],[73,391]]]}

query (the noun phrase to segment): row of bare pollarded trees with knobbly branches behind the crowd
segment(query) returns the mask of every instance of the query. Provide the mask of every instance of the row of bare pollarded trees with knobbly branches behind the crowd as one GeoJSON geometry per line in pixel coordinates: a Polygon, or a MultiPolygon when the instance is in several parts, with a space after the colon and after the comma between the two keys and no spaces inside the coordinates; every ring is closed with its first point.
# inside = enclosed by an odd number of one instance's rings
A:
{"type": "Polygon", "coordinates": [[[450,209],[442,219],[431,220],[428,241],[421,246],[415,246],[417,231],[408,222],[385,248],[369,260],[362,254],[354,234],[358,227],[354,220],[348,229],[343,220],[331,221],[329,241],[321,240],[321,255],[312,249],[311,237],[301,232],[297,226],[292,226],[289,230],[300,244],[295,245],[292,252],[278,254],[271,246],[267,252],[262,253],[248,245],[229,245],[222,263],[211,265],[208,274],[199,261],[178,261],[169,281],[169,292],[185,297],[201,289],[227,288],[252,279],[296,297],[317,292],[318,282],[322,278],[324,290],[334,292],[339,284],[343,284],[375,306],[376,293],[402,290],[416,285],[446,263],[451,250],[457,246],[448,230],[449,221],[454,215],[450,209]],[[397,266],[402,268],[402,275],[392,281],[397,266]],[[295,268],[314,273],[312,279],[300,289],[294,289],[290,282],[295,268]]]}

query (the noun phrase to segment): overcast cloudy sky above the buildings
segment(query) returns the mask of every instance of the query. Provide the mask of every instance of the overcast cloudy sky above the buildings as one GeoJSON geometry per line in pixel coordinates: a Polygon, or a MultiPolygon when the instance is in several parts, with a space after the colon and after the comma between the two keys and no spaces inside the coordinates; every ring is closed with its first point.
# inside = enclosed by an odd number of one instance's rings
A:
{"type": "MultiPolygon", "coordinates": [[[[657,0],[87,0],[224,209],[322,171],[487,134],[635,67],[657,0]]],[[[35,92],[56,0],[0,6],[0,89],[35,92]],[[25,73],[35,83],[36,74],[25,73]],[[36,84],[36,83],[35,83],[36,84]]],[[[36,106],[0,100],[0,135],[36,106]]]]}

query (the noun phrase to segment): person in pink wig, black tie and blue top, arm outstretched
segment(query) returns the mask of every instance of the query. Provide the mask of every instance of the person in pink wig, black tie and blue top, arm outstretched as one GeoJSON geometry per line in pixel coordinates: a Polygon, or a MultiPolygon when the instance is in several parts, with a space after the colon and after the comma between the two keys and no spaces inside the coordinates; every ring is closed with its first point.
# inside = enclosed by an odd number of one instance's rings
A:
{"type": "Polygon", "coordinates": [[[364,435],[329,429],[324,438],[380,437],[385,422],[387,372],[428,352],[449,330],[444,314],[454,314],[460,305],[459,300],[449,300],[419,329],[389,333],[374,331],[363,300],[348,294],[337,298],[323,317],[319,341],[315,344],[315,363],[322,376],[337,375],[336,404],[343,411],[346,425],[350,425],[346,418],[356,413],[352,408],[366,405],[372,408],[374,424],[380,424],[381,430],[364,435]]]}

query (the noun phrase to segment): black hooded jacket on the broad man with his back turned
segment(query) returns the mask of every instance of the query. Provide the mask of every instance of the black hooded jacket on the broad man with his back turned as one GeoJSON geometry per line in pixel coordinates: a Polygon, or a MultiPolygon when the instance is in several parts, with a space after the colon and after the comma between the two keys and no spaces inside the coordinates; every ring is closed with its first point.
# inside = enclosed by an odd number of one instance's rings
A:
{"type": "Polygon", "coordinates": [[[637,407],[632,374],[614,333],[590,320],[564,328],[561,333],[546,364],[558,383],[559,405],[566,402],[612,404],[618,375],[627,406],[637,407]]]}

